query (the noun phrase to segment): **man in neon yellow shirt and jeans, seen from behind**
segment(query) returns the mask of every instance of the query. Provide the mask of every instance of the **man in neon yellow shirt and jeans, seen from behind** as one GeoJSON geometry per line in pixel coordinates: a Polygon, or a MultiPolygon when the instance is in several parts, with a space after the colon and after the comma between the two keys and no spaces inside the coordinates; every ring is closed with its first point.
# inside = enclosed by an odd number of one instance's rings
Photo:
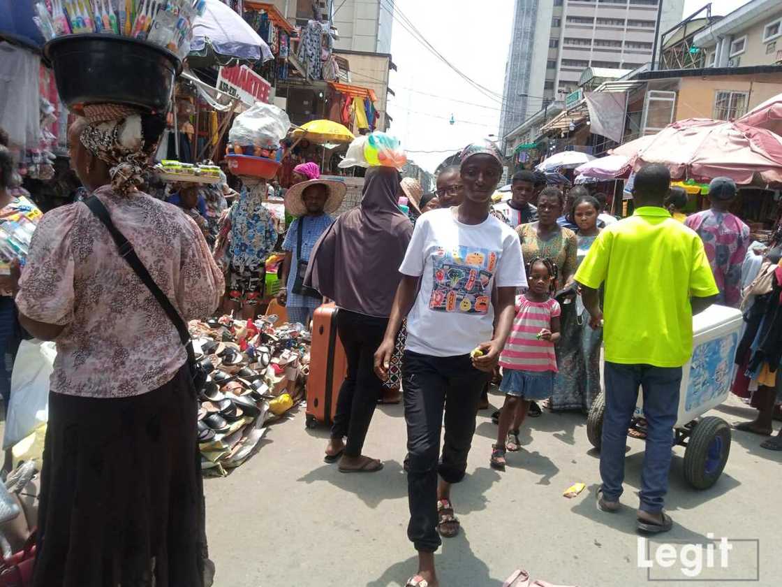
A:
{"type": "Polygon", "coordinates": [[[597,237],[576,272],[590,325],[605,315],[605,415],[600,455],[601,510],[619,510],[627,428],[638,387],[648,423],[637,527],[668,531],[663,511],[668,492],[673,425],[679,407],[682,366],[692,354],[692,316],[719,293],[703,243],[664,207],[670,174],[662,165],[638,171],[636,212],[597,237]],[[604,312],[597,288],[604,283],[604,312]]]}

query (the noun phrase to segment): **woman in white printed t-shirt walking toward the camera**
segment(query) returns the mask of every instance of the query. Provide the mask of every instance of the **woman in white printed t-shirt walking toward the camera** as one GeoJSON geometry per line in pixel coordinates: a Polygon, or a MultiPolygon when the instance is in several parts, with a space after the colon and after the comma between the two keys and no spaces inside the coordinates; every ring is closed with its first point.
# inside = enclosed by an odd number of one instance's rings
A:
{"type": "Polygon", "coordinates": [[[526,285],[518,236],[489,214],[501,174],[502,156],[493,144],[462,151],[464,201],[418,219],[400,267],[402,281],[386,337],[375,354],[375,370],[385,379],[396,332],[407,316],[402,366],[411,513],[407,536],[418,550],[418,574],[408,587],[439,585],[434,567],[439,537],[459,531],[450,486],[465,476],[482,387],[510,332],[516,288],[526,285]],[[438,464],[443,409],[446,430],[438,464]]]}

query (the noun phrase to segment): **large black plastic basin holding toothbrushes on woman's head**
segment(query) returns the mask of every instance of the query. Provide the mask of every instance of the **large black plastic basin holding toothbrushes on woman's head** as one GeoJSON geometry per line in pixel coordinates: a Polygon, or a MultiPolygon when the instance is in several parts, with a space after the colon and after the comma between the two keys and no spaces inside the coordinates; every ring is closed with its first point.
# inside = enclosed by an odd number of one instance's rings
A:
{"type": "Polygon", "coordinates": [[[163,111],[171,99],[181,61],[146,41],[112,34],[70,34],[49,41],[59,98],[70,110],[84,104],[117,103],[163,111]]]}

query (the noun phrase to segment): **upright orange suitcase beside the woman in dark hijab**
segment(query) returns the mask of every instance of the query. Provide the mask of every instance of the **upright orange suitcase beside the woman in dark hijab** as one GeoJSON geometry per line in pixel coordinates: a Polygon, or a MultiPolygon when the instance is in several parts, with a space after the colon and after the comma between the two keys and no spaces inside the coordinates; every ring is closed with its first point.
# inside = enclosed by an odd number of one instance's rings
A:
{"type": "Polygon", "coordinates": [[[334,421],[339,387],[347,375],[347,358],[337,333],[337,308],[325,304],[312,319],[310,375],[307,378],[307,428],[334,421]]]}

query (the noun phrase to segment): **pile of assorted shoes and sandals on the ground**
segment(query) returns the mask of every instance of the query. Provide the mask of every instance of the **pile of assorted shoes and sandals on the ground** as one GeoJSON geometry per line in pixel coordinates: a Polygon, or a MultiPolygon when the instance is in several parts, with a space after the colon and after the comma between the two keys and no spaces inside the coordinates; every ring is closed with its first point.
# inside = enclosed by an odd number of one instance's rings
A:
{"type": "Polygon", "coordinates": [[[190,323],[196,358],[210,371],[199,390],[199,444],[206,474],[224,477],[253,453],[265,425],[303,399],[310,335],[277,317],[190,323]]]}

